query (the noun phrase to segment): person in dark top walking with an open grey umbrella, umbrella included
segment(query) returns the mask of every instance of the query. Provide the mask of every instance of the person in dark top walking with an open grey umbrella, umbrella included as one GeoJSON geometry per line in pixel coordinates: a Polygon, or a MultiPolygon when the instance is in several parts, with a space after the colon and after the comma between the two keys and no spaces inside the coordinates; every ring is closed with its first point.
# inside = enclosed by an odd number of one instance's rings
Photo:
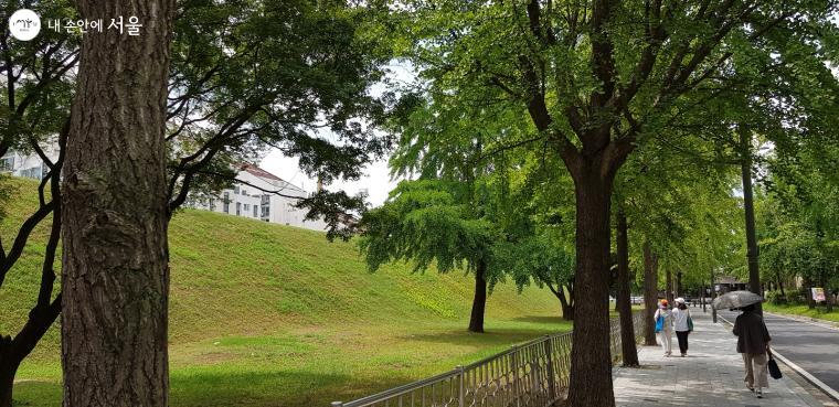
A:
{"type": "Polygon", "coordinates": [[[732,308],[743,311],[734,321],[734,335],[737,336],[737,353],[743,355],[746,387],[757,398],[763,398],[763,389],[769,387],[766,377],[769,351],[769,330],[763,317],[757,313],[755,304],[763,298],[751,291],[732,291],[714,300],[714,308],[732,308]]]}

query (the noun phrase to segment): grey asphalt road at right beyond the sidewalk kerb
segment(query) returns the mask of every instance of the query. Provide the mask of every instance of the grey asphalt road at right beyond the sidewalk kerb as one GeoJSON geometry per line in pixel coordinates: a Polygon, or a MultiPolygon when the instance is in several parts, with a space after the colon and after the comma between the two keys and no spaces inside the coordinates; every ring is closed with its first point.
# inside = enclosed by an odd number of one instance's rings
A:
{"type": "MultiPolygon", "coordinates": [[[[740,313],[720,314],[734,323],[740,313]]],[[[773,315],[764,321],[774,350],[839,392],[839,330],[773,315]]]]}

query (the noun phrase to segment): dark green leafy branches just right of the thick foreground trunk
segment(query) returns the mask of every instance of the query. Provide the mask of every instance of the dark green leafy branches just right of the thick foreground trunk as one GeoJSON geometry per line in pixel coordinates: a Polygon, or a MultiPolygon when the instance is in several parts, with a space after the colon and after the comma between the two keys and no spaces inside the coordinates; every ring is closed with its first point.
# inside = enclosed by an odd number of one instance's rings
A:
{"type": "MultiPolygon", "coordinates": [[[[297,157],[328,185],[357,180],[390,138],[374,133],[385,99],[386,50],[365,33],[364,8],[295,0],[178,3],[167,99],[169,208],[236,181],[237,164],[268,148],[297,157]]],[[[283,194],[282,191],[266,191],[283,194]]],[[[347,237],[340,213],[363,210],[343,192],[301,200],[347,237]]]]}

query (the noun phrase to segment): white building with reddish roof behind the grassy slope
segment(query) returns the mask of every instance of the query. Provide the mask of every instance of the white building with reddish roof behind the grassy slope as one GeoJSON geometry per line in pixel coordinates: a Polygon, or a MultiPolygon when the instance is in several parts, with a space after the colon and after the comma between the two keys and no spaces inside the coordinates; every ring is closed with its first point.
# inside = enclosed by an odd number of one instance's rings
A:
{"type": "Polygon", "coordinates": [[[295,205],[309,196],[304,189],[253,164],[243,164],[233,189],[215,197],[191,200],[189,206],[314,231],[326,231],[323,221],[305,221],[306,210],[295,205]],[[298,199],[299,197],[299,199],[298,199]]]}

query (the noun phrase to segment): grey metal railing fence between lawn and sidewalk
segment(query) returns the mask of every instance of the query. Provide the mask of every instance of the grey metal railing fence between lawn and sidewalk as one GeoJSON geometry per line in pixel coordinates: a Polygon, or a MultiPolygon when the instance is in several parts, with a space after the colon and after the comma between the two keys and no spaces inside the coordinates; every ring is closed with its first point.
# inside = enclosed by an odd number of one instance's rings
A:
{"type": "MultiPolygon", "coordinates": [[[[633,313],[636,343],[642,311],[633,313]]],[[[545,407],[562,398],[571,377],[572,332],[545,335],[437,376],[332,407],[545,407]]],[[[620,323],[609,321],[613,362],[620,360],[620,323]]]]}

